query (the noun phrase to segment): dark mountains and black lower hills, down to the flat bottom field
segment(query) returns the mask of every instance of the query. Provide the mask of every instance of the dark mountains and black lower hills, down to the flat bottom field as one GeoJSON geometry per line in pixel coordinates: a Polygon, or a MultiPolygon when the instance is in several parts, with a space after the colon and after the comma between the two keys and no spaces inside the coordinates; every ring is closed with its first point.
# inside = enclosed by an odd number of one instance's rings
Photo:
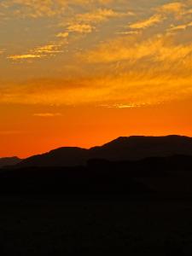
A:
{"type": "Polygon", "coordinates": [[[192,195],[191,137],[119,137],[2,162],[0,195],[192,195]]]}

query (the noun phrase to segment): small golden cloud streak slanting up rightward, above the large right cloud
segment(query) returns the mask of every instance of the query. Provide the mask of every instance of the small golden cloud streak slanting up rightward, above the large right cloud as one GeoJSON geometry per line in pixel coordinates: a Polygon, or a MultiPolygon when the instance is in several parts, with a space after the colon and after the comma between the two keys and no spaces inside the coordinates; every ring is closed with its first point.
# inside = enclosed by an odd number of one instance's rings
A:
{"type": "Polygon", "coordinates": [[[131,24],[129,27],[132,29],[144,29],[149,26],[154,26],[155,24],[158,24],[163,20],[165,20],[165,18],[162,15],[153,15],[147,20],[138,21],[131,24]]]}

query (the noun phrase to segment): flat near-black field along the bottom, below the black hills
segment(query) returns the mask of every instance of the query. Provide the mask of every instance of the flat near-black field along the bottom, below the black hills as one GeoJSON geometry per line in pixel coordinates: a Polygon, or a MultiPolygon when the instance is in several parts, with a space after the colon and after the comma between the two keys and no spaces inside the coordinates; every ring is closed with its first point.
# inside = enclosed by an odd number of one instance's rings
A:
{"type": "Polygon", "coordinates": [[[191,201],[1,199],[1,255],[191,255],[191,201]]]}

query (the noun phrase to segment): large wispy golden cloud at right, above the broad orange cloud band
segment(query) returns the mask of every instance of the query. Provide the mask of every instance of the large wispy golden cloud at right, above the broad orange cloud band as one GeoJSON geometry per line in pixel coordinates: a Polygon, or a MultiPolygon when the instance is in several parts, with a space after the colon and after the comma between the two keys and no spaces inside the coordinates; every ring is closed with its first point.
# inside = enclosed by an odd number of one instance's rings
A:
{"type": "Polygon", "coordinates": [[[168,36],[154,36],[148,39],[119,37],[96,49],[87,51],[82,58],[89,63],[110,63],[117,61],[139,61],[145,58],[156,61],[183,61],[192,53],[192,44],[173,44],[168,36]],[[138,40],[140,44],[137,43],[138,40]]]}

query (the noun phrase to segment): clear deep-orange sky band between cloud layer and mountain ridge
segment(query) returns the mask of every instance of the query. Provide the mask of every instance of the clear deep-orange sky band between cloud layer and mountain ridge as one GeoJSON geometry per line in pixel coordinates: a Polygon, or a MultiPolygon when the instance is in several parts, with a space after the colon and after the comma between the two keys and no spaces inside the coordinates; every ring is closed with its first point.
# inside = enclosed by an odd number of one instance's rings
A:
{"type": "MultiPolygon", "coordinates": [[[[89,148],[119,136],[181,134],[192,137],[190,101],[134,109],[58,107],[56,110],[61,115],[44,117],[33,116],[34,109],[27,106],[1,106],[0,109],[4,113],[0,133],[2,156],[26,157],[61,146],[89,148]]],[[[47,107],[41,110],[44,112],[47,107]]],[[[49,113],[51,110],[49,108],[49,113]]]]}

